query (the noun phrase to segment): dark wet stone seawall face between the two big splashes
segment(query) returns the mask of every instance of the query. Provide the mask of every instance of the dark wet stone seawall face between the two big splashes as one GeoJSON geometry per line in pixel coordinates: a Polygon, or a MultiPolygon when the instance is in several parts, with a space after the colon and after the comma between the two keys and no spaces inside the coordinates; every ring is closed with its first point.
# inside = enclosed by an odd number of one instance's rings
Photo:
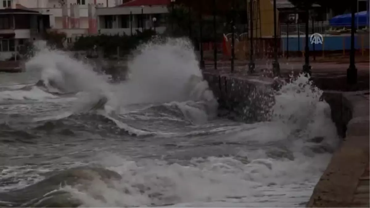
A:
{"type": "Polygon", "coordinates": [[[252,123],[266,120],[273,104],[274,80],[259,76],[240,78],[203,72],[209,87],[218,99],[219,115],[252,123]]]}

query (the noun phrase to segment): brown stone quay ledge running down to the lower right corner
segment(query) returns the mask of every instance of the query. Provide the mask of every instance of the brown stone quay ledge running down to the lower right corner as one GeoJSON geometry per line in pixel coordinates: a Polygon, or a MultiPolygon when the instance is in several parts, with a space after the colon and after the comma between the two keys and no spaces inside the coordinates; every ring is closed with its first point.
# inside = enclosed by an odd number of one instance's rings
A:
{"type": "Polygon", "coordinates": [[[307,208],[370,206],[370,91],[341,93],[346,135],[307,208]]]}

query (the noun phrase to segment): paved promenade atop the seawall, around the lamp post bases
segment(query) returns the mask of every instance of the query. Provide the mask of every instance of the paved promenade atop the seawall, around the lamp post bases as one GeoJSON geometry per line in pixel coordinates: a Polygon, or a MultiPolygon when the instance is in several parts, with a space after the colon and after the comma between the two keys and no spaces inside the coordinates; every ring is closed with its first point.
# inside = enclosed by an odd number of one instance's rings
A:
{"type": "MultiPolygon", "coordinates": [[[[230,61],[218,61],[218,67],[215,70],[213,61],[206,61],[205,71],[209,73],[221,74],[223,76],[238,76],[240,78],[248,75],[248,62],[235,61],[234,73],[231,73],[230,61]]],[[[314,83],[322,90],[348,91],[350,86],[346,84],[346,73],[348,63],[311,63],[312,78],[314,83]]],[[[357,63],[358,84],[356,90],[370,89],[370,63],[357,63]]],[[[302,72],[302,63],[280,62],[280,72],[283,77],[289,74],[299,74],[302,72]]],[[[271,60],[256,61],[256,73],[254,76],[272,77],[271,60]]],[[[351,89],[353,90],[353,89],[351,89]]]]}

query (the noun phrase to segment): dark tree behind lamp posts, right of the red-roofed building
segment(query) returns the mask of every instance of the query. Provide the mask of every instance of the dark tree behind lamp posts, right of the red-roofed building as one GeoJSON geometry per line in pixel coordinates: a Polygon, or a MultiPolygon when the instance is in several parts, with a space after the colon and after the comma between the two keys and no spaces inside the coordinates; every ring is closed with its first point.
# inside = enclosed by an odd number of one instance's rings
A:
{"type": "Polygon", "coordinates": [[[236,19],[236,31],[245,32],[244,25],[240,26],[238,23],[246,24],[246,3],[247,0],[176,0],[174,5],[168,5],[169,23],[174,24],[174,31],[172,31],[172,25],[167,27],[169,29],[168,33],[171,36],[188,36],[191,34],[191,39],[195,41],[194,39],[197,39],[200,33],[199,13],[202,13],[202,41],[210,42],[214,36],[212,17],[214,10],[216,10],[217,37],[221,38],[222,33],[231,32],[233,16],[236,19]],[[234,4],[234,10],[232,10],[232,4],[234,4]],[[243,23],[241,23],[242,20],[244,20],[243,23]]]}

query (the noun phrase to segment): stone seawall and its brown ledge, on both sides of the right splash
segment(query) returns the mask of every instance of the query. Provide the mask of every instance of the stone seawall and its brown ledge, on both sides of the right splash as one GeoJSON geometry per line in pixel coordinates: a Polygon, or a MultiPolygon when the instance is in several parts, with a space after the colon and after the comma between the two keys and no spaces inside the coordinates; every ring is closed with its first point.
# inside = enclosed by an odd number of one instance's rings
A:
{"type": "MultiPolygon", "coordinates": [[[[273,104],[274,80],[203,73],[229,118],[263,121],[273,104]]],[[[370,91],[324,91],[343,142],[313,190],[307,208],[370,207],[370,91]]]]}

